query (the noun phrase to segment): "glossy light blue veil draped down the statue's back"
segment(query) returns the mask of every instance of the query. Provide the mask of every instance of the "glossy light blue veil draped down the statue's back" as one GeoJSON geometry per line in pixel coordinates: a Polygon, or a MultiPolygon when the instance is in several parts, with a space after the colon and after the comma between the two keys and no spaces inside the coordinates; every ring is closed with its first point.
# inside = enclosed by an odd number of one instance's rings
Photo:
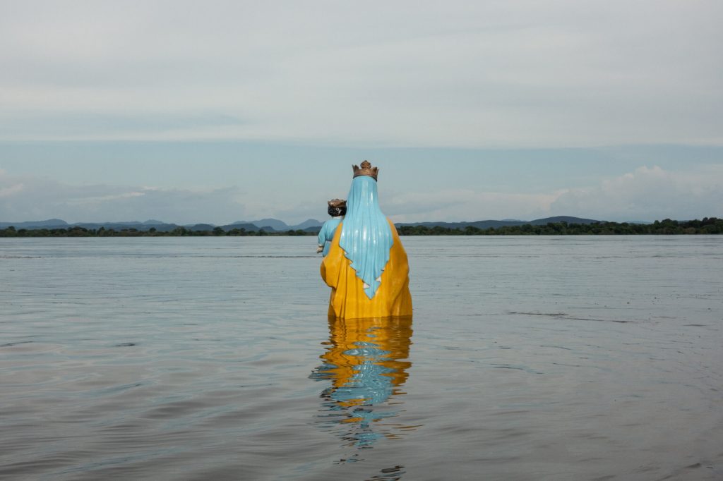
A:
{"type": "Polygon", "coordinates": [[[351,269],[369,287],[364,293],[371,299],[377,293],[394,239],[387,217],[377,199],[377,181],[360,175],[351,181],[346,197],[346,217],[341,223],[339,246],[351,261],[351,269]]]}

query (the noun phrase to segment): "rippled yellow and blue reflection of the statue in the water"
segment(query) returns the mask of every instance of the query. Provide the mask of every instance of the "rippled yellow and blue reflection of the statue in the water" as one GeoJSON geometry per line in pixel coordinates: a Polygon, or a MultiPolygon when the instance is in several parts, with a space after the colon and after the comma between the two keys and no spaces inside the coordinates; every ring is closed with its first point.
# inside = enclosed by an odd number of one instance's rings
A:
{"type": "Polygon", "coordinates": [[[415,426],[394,423],[403,411],[402,386],[411,367],[411,316],[329,319],[324,361],[312,373],[330,381],[322,391],[319,423],[337,431],[347,446],[371,448],[380,438],[398,438],[415,426]]]}

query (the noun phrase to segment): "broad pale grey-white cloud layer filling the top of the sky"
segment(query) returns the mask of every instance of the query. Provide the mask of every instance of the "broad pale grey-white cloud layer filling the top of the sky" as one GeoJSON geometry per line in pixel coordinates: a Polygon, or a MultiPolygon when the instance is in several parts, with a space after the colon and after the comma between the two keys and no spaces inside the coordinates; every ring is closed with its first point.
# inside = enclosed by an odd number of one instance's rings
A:
{"type": "Polygon", "coordinates": [[[16,2],[0,139],[720,144],[716,0],[16,2]]]}

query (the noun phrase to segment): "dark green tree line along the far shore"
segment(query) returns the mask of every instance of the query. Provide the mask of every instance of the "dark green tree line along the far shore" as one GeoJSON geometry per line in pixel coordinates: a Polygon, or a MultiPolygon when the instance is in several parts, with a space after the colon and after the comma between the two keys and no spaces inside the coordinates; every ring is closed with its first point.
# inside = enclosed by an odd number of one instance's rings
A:
{"type": "MultiPolygon", "coordinates": [[[[549,222],[547,225],[505,225],[499,228],[480,229],[474,226],[466,228],[445,228],[442,226],[400,225],[399,235],[693,235],[723,234],[723,219],[704,217],[703,220],[656,220],[651,224],[633,224],[629,222],[593,222],[591,224],[568,224],[568,222],[549,222]]],[[[184,227],[161,232],[150,228],[87,229],[80,226],[51,229],[18,229],[8,227],[0,229],[0,237],[179,237],[179,236],[264,236],[264,235],[317,235],[307,230],[286,230],[267,232],[234,228],[223,230],[191,230],[184,227]]]]}

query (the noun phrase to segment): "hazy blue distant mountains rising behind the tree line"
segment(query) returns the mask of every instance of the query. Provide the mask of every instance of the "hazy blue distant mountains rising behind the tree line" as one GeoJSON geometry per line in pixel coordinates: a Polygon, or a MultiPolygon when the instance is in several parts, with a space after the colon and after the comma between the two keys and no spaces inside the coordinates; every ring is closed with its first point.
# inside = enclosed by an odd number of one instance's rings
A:
{"type": "MultiPolygon", "coordinates": [[[[557,217],[545,217],[544,219],[536,220],[477,220],[476,222],[414,222],[414,223],[398,223],[398,227],[401,225],[424,225],[428,228],[433,228],[437,225],[444,228],[466,228],[468,225],[474,226],[480,229],[487,228],[499,228],[505,225],[546,225],[548,222],[568,222],[568,224],[592,224],[594,222],[600,222],[593,219],[581,219],[580,217],[569,217],[569,216],[557,216],[557,217]]],[[[214,228],[220,227],[223,230],[232,229],[245,229],[247,232],[265,230],[266,232],[285,232],[287,230],[304,230],[306,232],[319,232],[322,222],[316,219],[309,219],[301,222],[297,225],[287,225],[278,219],[261,219],[261,220],[239,220],[231,224],[226,225],[213,225],[213,224],[168,224],[161,222],[160,220],[146,220],[145,222],[129,221],[129,222],[76,222],[69,224],[61,219],[48,219],[48,220],[36,220],[26,222],[0,222],[0,229],[8,228],[10,226],[20,229],[67,229],[75,226],[86,228],[86,229],[100,229],[105,228],[114,230],[123,229],[137,229],[137,230],[150,230],[154,228],[160,232],[170,232],[179,227],[187,228],[189,230],[213,230],[214,228]]]]}

